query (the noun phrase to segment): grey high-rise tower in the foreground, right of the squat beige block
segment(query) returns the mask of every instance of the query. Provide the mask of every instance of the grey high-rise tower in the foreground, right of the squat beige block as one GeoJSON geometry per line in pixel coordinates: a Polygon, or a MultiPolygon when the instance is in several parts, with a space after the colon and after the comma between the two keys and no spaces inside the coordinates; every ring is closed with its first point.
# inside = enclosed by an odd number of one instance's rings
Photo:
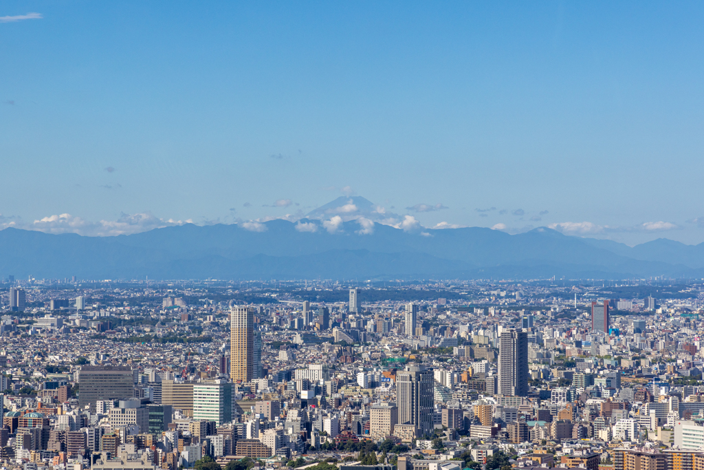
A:
{"type": "Polygon", "coordinates": [[[398,423],[415,425],[417,436],[433,428],[434,380],[432,371],[422,366],[406,366],[396,373],[398,423]]]}

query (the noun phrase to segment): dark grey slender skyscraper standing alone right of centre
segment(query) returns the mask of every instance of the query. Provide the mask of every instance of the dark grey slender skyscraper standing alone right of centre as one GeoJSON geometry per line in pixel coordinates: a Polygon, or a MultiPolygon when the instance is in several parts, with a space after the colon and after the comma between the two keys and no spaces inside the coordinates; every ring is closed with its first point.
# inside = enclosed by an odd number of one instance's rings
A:
{"type": "Polygon", "coordinates": [[[528,395],[528,333],[503,330],[498,348],[498,392],[528,395]]]}

